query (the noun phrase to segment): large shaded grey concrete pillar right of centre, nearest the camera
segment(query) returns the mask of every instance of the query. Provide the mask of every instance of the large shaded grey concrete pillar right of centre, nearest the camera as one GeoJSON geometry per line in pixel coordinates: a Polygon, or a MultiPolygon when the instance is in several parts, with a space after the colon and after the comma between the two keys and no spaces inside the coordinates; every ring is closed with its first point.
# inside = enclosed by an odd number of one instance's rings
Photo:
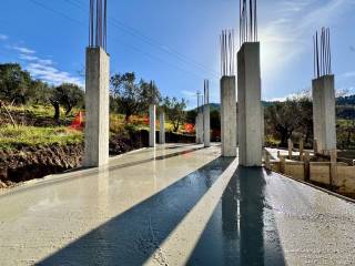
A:
{"type": "Polygon", "coordinates": [[[262,165],[260,43],[244,43],[237,53],[240,164],[262,165]]]}

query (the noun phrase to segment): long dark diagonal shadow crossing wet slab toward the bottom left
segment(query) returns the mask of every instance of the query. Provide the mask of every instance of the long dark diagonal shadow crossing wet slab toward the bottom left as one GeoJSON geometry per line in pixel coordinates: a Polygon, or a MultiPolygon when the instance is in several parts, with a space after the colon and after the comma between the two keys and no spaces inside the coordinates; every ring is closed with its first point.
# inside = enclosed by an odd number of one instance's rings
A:
{"type": "MultiPolygon", "coordinates": [[[[211,161],[38,265],[142,265],[160,250],[164,239],[233,160],[217,157],[211,161]]],[[[163,254],[159,254],[159,263],[166,265],[163,254]]]]}

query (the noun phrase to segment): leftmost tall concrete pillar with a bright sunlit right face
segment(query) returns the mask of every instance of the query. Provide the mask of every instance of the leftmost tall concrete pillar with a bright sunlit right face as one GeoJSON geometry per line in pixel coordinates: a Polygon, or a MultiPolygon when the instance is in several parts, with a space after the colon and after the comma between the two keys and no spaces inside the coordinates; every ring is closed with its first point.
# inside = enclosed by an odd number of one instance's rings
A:
{"type": "Polygon", "coordinates": [[[110,57],[101,48],[87,48],[85,151],[83,165],[109,164],[109,82],[110,57]]]}

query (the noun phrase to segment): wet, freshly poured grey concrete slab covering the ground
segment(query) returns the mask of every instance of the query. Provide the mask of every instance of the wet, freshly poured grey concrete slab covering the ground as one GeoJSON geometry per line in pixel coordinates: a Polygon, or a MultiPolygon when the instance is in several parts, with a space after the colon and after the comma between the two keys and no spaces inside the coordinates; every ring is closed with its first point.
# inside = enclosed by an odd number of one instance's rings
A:
{"type": "Polygon", "coordinates": [[[355,205],[220,146],[165,145],[0,193],[1,265],[354,265],[355,205]]]}

